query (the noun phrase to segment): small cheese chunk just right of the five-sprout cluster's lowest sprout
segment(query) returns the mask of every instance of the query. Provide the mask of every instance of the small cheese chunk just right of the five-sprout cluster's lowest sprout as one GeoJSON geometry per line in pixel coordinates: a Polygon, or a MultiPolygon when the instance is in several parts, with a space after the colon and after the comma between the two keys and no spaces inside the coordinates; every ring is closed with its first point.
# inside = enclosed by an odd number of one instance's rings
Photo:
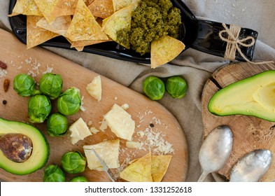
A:
{"type": "Polygon", "coordinates": [[[78,120],[76,120],[76,122],[74,122],[69,127],[69,132],[71,132],[71,144],[76,144],[78,141],[83,140],[85,137],[92,135],[89,127],[87,127],[82,118],[78,118],[78,120]]]}

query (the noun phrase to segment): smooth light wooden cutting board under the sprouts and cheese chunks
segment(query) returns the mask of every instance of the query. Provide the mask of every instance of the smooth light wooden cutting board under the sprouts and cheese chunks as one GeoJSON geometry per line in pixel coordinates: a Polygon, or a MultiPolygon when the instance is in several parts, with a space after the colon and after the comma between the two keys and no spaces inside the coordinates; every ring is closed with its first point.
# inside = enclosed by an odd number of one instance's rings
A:
{"type": "MultiPolygon", "coordinates": [[[[6,62],[8,65],[8,69],[6,69],[8,73],[6,76],[0,78],[0,83],[2,84],[0,88],[1,118],[28,122],[27,101],[29,98],[20,97],[15,93],[13,90],[13,78],[18,73],[33,71],[37,74],[35,79],[38,81],[42,76],[42,72],[47,67],[52,68],[52,73],[59,73],[62,76],[64,82],[63,90],[71,86],[78,87],[81,96],[84,97],[83,106],[85,111],[80,111],[74,116],[69,116],[69,124],[82,117],[86,123],[92,121],[92,125],[88,125],[88,127],[99,129],[103,115],[111,109],[113,104],[129,104],[127,112],[136,123],[133,141],[146,142],[146,137],[140,137],[137,134],[137,132],[143,131],[153,134],[157,141],[172,144],[174,153],[171,153],[171,162],[163,181],[185,181],[188,170],[188,146],[185,135],[176,118],[162,105],[104,76],[101,76],[102,99],[100,102],[97,102],[96,99],[90,97],[85,87],[95,76],[99,75],[98,73],[85,69],[83,66],[70,62],[68,59],[59,57],[40,47],[27,50],[26,45],[20,43],[13,34],[1,29],[0,36],[0,60],[6,62]],[[36,68],[38,69],[36,70],[36,68]],[[8,92],[3,91],[3,80],[5,78],[10,80],[8,92]],[[2,104],[3,100],[7,101],[6,105],[2,104]],[[157,133],[159,133],[158,137],[157,133]]],[[[90,60],[92,61],[93,59],[90,60]]],[[[56,109],[55,104],[53,104],[53,108],[56,109]]],[[[115,138],[115,135],[108,128],[105,132],[93,134],[83,141],[79,141],[78,144],[72,145],[69,133],[63,137],[49,137],[44,124],[35,126],[45,134],[50,144],[50,158],[47,165],[60,165],[62,155],[68,151],[80,151],[83,153],[83,145],[97,144],[106,139],[115,138]]],[[[120,164],[123,166],[122,163],[126,158],[133,160],[148,153],[148,146],[144,147],[145,150],[126,148],[125,141],[121,139],[120,148],[123,150],[123,153],[122,151],[120,153],[120,164]]],[[[152,153],[153,149],[155,149],[154,146],[151,149],[152,153]]],[[[43,181],[43,169],[24,176],[10,174],[0,169],[0,179],[4,181],[43,181]]],[[[113,169],[113,172],[118,174],[118,169],[113,169]]],[[[90,181],[110,181],[105,172],[98,172],[88,168],[85,169],[82,175],[86,176],[90,181]]],[[[66,174],[67,181],[71,177],[72,175],[66,174]]]]}

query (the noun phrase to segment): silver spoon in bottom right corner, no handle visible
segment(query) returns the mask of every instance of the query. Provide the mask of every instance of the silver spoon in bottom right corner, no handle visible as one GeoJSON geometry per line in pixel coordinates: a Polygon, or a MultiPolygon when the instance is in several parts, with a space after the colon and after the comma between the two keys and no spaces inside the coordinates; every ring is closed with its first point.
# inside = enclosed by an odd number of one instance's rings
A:
{"type": "Polygon", "coordinates": [[[258,182],[272,162],[272,153],[260,149],[244,155],[230,173],[230,182],[258,182]]]}

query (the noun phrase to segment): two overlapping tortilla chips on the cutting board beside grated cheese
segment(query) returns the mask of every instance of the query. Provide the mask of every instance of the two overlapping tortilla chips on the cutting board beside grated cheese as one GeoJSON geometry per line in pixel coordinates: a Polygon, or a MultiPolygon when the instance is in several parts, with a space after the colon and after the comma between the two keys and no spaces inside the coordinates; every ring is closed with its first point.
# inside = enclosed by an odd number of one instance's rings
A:
{"type": "Polygon", "coordinates": [[[129,182],[160,182],[167,172],[171,155],[151,155],[133,160],[120,172],[120,178],[129,182]]]}

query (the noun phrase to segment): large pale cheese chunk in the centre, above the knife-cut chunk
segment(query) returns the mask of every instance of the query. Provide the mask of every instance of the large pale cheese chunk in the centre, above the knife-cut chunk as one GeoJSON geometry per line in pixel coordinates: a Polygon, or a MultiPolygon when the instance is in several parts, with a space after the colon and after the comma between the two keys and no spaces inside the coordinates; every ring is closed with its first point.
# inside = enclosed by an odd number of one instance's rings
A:
{"type": "Polygon", "coordinates": [[[131,115],[122,109],[122,107],[118,106],[118,104],[113,105],[111,111],[108,111],[104,116],[104,120],[106,120],[108,127],[111,128],[111,131],[117,137],[128,141],[132,140],[135,127],[134,120],[132,120],[131,115]]]}

